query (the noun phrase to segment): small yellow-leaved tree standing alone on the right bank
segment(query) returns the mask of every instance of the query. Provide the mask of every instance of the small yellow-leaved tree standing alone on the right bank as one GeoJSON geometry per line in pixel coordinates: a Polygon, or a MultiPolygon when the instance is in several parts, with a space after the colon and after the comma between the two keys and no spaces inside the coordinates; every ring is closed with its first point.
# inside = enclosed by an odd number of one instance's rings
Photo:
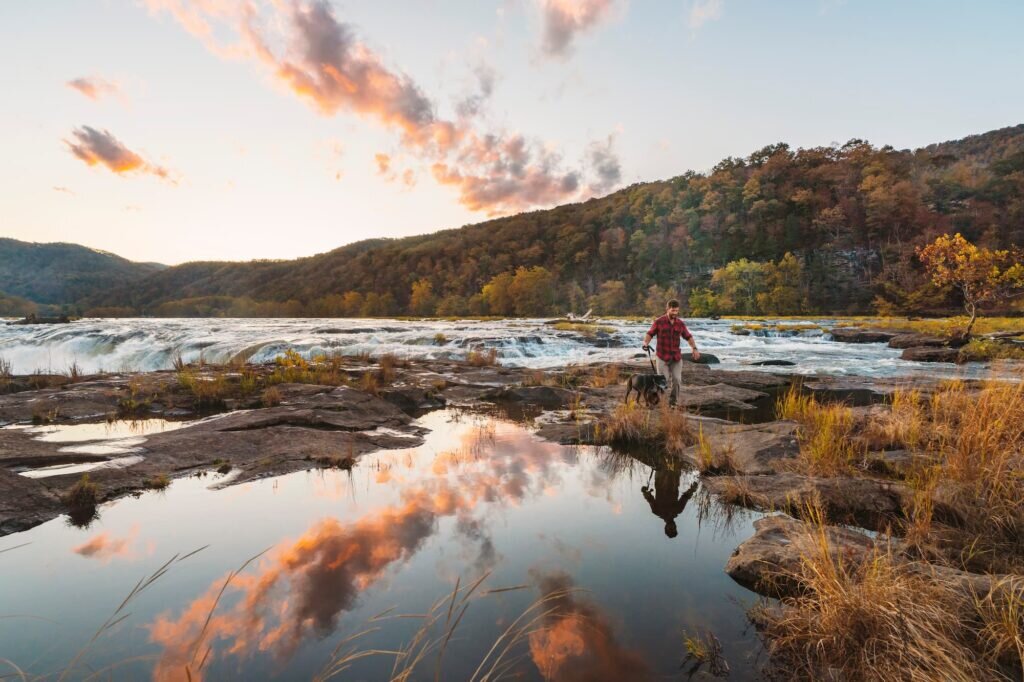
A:
{"type": "Polygon", "coordinates": [[[951,286],[963,296],[964,310],[971,317],[965,338],[971,336],[979,306],[1024,294],[1024,252],[1019,248],[1012,252],[978,248],[956,232],[918,249],[918,257],[937,287],[951,286]]]}

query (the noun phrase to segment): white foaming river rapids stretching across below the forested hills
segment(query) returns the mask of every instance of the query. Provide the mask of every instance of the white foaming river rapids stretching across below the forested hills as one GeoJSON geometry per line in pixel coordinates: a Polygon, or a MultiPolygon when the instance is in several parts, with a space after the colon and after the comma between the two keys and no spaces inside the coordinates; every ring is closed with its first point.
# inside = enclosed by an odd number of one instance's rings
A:
{"type": "MultiPolygon", "coordinates": [[[[967,378],[987,372],[978,364],[955,367],[905,361],[899,358],[899,350],[885,344],[837,343],[820,330],[797,336],[737,336],[729,330],[738,322],[687,321],[700,349],[717,355],[723,369],[774,359],[795,365],[768,368],[772,372],[805,375],[924,374],[967,378]]],[[[28,374],[67,372],[72,365],[86,373],[165,370],[179,354],[185,361],[202,357],[223,363],[240,353],[252,361],[267,361],[290,348],[307,357],[368,352],[424,359],[464,357],[472,349],[494,348],[504,365],[538,369],[624,360],[640,352],[646,324],[614,319],[601,324],[613,331],[587,340],[546,325],[543,319],[128,318],[82,319],[68,325],[0,323],[0,357],[11,364],[15,374],[28,374]]],[[[827,327],[827,323],[823,326],[827,327]]]]}

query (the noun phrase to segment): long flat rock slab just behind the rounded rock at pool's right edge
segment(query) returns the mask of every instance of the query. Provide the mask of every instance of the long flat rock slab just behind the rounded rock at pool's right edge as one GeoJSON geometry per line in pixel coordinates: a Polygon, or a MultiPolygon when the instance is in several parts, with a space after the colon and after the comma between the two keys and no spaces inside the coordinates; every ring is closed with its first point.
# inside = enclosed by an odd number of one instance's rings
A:
{"type": "Polygon", "coordinates": [[[770,476],[718,476],[707,481],[710,489],[728,502],[762,510],[802,515],[820,501],[828,518],[881,528],[903,515],[903,501],[910,491],[895,481],[872,478],[825,478],[783,472],[770,476]]]}

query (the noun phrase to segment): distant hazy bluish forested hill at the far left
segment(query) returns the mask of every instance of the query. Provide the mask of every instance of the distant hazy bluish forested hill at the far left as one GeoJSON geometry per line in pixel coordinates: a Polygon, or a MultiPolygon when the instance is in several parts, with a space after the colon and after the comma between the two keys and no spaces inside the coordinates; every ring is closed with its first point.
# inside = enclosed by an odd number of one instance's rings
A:
{"type": "Polygon", "coordinates": [[[36,303],[74,303],[164,267],[76,244],[0,239],[0,292],[36,303]]]}

